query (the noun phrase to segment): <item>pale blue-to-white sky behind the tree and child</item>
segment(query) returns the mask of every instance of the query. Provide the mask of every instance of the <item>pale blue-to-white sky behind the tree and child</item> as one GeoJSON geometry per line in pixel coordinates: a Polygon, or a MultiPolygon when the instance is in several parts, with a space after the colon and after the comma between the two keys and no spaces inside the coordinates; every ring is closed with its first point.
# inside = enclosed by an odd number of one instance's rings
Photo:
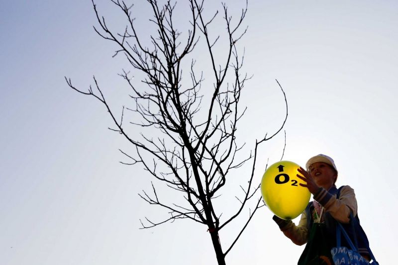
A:
{"type": "MultiPolygon", "coordinates": [[[[120,23],[113,5],[97,2],[110,25],[120,23]]],[[[231,12],[244,4],[226,2],[231,12]]],[[[205,10],[217,8],[218,1],[208,1],[205,10]]],[[[134,12],[150,18],[144,1],[134,12]]],[[[131,147],[107,129],[111,120],[100,102],[64,81],[70,77],[86,89],[95,75],[116,110],[127,100],[117,76],[127,64],[112,58],[115,46],[94,32],[91,1],[3,1],[0,17],[0,264],[216,264],[204,226],[178,220],[139,229],[145,216],[168,217],[138,196],[152,178],[140,166],[119,163],[124,157],[118,149],[131,147]]],[[[182,27],[183,18],[176,20],[182,27]]],[[[244,23],[248,32],[240,47],[244,70],[253,75],[238,127],[246,152],[283,121],[277,79],[289,104],[284,159],[304,166],[313,155],[331,156],[339,170],[336,184],[355,190],[378,262],[392,264],[398,237],[398,3],[249,0],[244,23]]],[[[215,26],[212,33],[223,29],[215,26]]],[[[283,146],[282,133],[260,148],[257,183],[267,159],[279,161],[283,146]]],[[[231,183],[249,172],[242,169],[231,183]]],[[[225,212],[236,207],[234,191],[223,191],[225,212]]],[[[228,265],[297,263],[303,246],[287,239],[272,216],[266,207],[258,210],[226,257],[228,265]]],[[[241,221],[221,231],[224,249],[241,221]]]]}

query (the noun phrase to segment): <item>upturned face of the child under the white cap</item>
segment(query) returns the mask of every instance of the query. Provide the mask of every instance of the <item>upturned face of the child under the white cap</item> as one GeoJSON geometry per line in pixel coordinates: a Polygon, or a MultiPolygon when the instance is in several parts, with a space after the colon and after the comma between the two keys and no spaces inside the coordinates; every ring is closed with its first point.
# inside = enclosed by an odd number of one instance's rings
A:
{"type": "Polygon", "coordinates": [[[326,163],[315,162],[309,166],[308,171],[315,183],[325,189],[329,189],[336,182],[336,171],[326,163]]]}

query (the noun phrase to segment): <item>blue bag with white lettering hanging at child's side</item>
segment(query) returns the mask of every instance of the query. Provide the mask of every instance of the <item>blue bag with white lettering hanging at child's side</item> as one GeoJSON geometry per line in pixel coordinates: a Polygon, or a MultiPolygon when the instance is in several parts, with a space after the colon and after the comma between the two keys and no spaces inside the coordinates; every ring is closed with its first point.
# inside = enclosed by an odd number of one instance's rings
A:
{"type": "MultiPolygon", "coordinates": [[[[352,230],[354,230],[354,222],[357,222],[356,219],[350,214],[350,224],[352,226],[352,230]]],[[[341,223],[337,222],[336,226],[336,242],[337,246],[331,249],[332,259],[334,265],[379,265],[373,256],[372,251],[368,248],[368,253],[372,258],[373,262],[369,263],[366,259],[364,259],[358,251],[358,240],[356,234],[354,233],[354,242],[351,241],[347,232],[341,223]],[[345,240],[348,242],[351,249],[347,247],[341,246],[341,234],[343,234],[345,240]]]]}

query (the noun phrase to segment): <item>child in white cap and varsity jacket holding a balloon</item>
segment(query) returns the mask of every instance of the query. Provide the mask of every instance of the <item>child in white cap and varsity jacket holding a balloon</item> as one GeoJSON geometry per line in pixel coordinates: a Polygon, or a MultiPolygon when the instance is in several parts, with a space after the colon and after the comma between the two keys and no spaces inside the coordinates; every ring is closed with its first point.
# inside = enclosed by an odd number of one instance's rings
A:
{"type": "MultiPolygon", "coordinates": [[[[293,243],[307,243],[298,265],[333,264],[330,250],[336,246],[336,221],[348,224],[352,213],[359,226],[354,189],[350,186],[336,187],[338,171],[333,159],[328,156],[314,156],[308,160],[305,167],[306,171],[298,169],[297,177],[304,181],[300,185],[308,188],[314,200],[309,202],[302,212],[298,225],[275,215],[273,219],[293,243]]],[[[351,226],[345,227],[348,234],[352,235],[354,231],[351,231],[351,226]]],[[[360,226],[355,231],[363,232],[360,226]]],[[[370,261],[369,242],[365,233],[357,238],[360,254],[370,261]]],[[[342,245],[346,246],[347,243],[342,242],[342,245]]]]}

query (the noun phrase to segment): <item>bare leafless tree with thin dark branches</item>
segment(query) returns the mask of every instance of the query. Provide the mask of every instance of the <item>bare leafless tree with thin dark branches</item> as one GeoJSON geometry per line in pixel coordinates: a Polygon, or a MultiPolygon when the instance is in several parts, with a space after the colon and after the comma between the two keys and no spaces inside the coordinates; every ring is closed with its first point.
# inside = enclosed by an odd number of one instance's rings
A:
{"type": "Polygon", "coordinates": [[[250,152],[245,158],[237,155],[243,147],[236,141],[237,123],[246,110],[238,108],[238,103],[242,89],[249,80],[246,74],[241,74],[243,56],[238,55],[237,44],[247,29],[242,28],[247,1],[236,20],[228,14],[227,6],[222,4],[220,13],[226,30],[221,37],[225,37],[227,41],[223,43],[225,56],[220,62],[216,62],[214,54],[220,35],[211,36],[209,30],[220,14],[216,11],[206,20],[203,1],[187,0],[190,6],[190,20],[187,21],[190,29],[185,32],[185,40],[181,40],[182,32],[173,23],[176,4],[170,1],[160,4],[157,0],[147,0],[153,10],[150,21],[157,30],[157,34],[150,36],[151,47],[144,45],[143,37],[137,33],[138,24],[133,17],[134,5],[127,5],[120,0],[110,1],[127,18],[126,27],[122,32],[109,29],[93,0],[99,23],[99,28],[95,27],[95,30],[102,38],[117,45],[115,56],[124,55],[132,69],[145,74],[140,85],[132,81],[129,72],[123,70],[120,74],[132,90],[130,96],[134,107],[123,106],[121,117],[117,117],[105,100],[95,77],[96,90],[90,87],[88,91],[76,88],[70,79],[65,79],[71,88],[100,100],[116,126],[111,130],[123,135],[135,147],[134,155],[120,150],[130,160],[123,164],[141,164],[150,175],[182,195],[181,201],[167,204],[159,198],[152,183],[152,192],[143,191],[141,198],[150,204],[168,209],[170,216],[159,222],[146,219],[141,222],[142,227],[150,228],[176,219],[190,219],[203,224],[208,228],[218,264],[225,265],[225,256],[235,245],[256,210],[264,205],[258,192],[259,184],[253,183],[258,146],[279,133],[288,116],[286,95],[278,83],[286,102],[286,117],[282,126],[273,135],[267,137],[265,134],[263,139],[256,141],[254,152],[250,152]],[[199,58],[194,54],[200,44],[204,45],[207,57],[199,58]],[[207,79],[212,80],[212,86],[206,87],[211,93],[204,95],[200,90],[204,86],[203,72],[196,69],[195,63],[196,59],[207,58],[211,73],[207,79]],[[185,67],[187,62],[190,66],[188,69],[185,67]],[[123,123],[126,111],[140,117],[139,121],[132,121],[130,124],[154,128],[161,136],[153,139],[142,134],[140,139],[132,139],[123,123]],[[247,174],[247,184],[240,186],[244,192],[243,196],[236,197],[239,200],[236,211],[221,218],[222,208],[216,209],[214,199],[220,195],[221,188],[228,180],[227,176],[249,160],[252,163],[251,172],[247,174]],[[237,231],[235,239],[223,251],[219,231],[242,212],[247,212],[247,208],[250,208],[248,201],[253,198],[253,209],[249,209],[247,220],[240,231],[237,231]]]}

